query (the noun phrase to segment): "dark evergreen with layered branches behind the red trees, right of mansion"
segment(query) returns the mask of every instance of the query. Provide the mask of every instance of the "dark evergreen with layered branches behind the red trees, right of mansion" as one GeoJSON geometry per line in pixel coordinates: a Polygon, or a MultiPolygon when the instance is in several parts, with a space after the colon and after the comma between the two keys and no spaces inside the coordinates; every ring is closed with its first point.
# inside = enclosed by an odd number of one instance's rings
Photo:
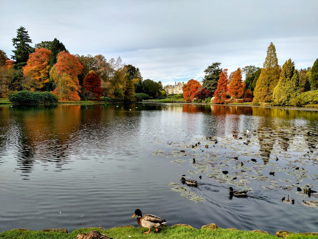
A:
{"type": "Polygon", "coordinates": [[[218,87],[218,80],[222,72],[222,68],[219,68],[220,65],[220,62],[214,62],[211,66],[208,66],[208,68],[204,70],[205,76],[203,78],[202,87],[209,90],[212,95],[218,87]]]}

